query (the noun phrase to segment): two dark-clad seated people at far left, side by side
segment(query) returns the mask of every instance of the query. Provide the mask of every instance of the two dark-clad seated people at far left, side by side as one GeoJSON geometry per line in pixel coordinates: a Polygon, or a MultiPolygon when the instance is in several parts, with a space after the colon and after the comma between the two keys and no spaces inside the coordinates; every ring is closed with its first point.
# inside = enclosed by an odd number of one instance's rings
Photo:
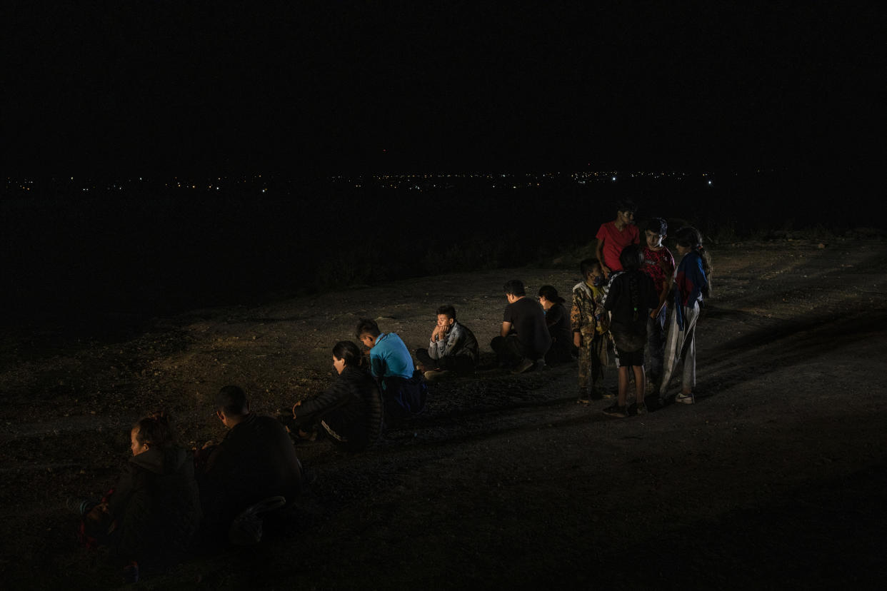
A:
{"type": "Polygon", "coordinates": [[[215,407],[228,432],[193,452],[177,445],[164,412],[140,419],[114,487],[79,503],[80,540],[108,548],[130,581],[175,564],[198,536],[204,548],[255,543],[262,514],[292,506],[302,491],[302,463],[283,424],[252,412],[236,385],[221,389],[215,407]]]}

